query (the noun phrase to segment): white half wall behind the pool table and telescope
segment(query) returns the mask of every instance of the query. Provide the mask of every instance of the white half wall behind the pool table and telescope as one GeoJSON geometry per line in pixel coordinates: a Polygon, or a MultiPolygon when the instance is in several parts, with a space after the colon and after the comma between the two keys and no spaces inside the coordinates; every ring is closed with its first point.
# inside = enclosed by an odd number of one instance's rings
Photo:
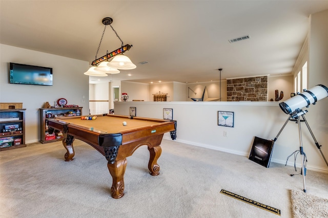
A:
{"type": "MultiPolygon", "coordinates": [[[[322,101],[328,101],[328,98],[322,101]]],[[[136,107],[138,117],[163,119],[163,108],[173,108],[177,121],[177,141],[195,146],[221,150],[249,157],[254,137],[274,139],[289,118],[278,106],[279,102],[115,102],[115,114],[129,115],[130,106],[136,107]],[[218,126],[217,112],[234,112],[234,127],[218,126]],[[223,131],[228,137],[223,137],[223,131]]],[[[318,102],[321,107],[324,102],[318,102]]],[[[325,143],[327,131],[322,134],[313,120],[308,119],[318,142],[325,143]]],[[[304,152],[308,169],[328,172],[310,132],[302,122],[304,152]]],[[[170,134],[165,134],[170,139],[170,134]]],[[[272,162],[285,164],[292,152],[299,149],[298,125],[289,121],[275,142],[272,162]]],[[[324,155],[328,157],[328,149],[324,155]]],[[[300,161],[296,165],[300,166],[300,161]]],[[[294,165],[291,158],[288,165],[294,165]]],[[[252,170],[252,169],[250,169],[252,170]]]]}

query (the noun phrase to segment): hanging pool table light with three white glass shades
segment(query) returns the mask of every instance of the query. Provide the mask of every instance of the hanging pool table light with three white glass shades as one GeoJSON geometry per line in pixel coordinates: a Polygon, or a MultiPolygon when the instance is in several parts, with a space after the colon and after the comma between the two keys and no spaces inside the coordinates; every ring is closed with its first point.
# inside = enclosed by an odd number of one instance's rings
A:
{"type": "Polygon", "coordinates": [[[91,76],[107,76],[108,74],[116,74],[119,73],[119,71],[117,69],[122,69],[122,70],[132,70],[135,69],[137,66],[135,66],[134,63],[132,63],[132,61],[130,60],[130,58],[128,58],[127,56],[123,55],[123,53],[125,53],[126,51],[129,51],[132,47],[132,45],[124,45],[123,41],[121,40],[121,38],[118,36],[118,34],[116,33],[116,31],[114,30],[114,28],[112,27],[112,23],[113,23],[113,19],[111,17],[105,17],[103,18],[103,20],[101,21],[104,25],[104,31],[103,31],[103,35],[101,35],[101,39],[99,42],[99,46],[96,52],[96,58],[94,61],[92,61],[91,63],[91,68],[85,72],[84,74],[86,75],[91,75],[91,76]],[[103,41],[103,37],[104,37],[104,33],[106,30],[106,26],[109,25],[112,30],[114,31],[114,33],[116,34],[117,38],[121,41],[121,47],[112,51],[112,52],[108,52],[107,50],[107,54],[97,58],[97,54],[101,45],[101,41],[103,41]],[[109,62],[109,59],[112,59],[112,61],[109,62]],[[105,74],[105,75],[104,75],[105,74]]]}

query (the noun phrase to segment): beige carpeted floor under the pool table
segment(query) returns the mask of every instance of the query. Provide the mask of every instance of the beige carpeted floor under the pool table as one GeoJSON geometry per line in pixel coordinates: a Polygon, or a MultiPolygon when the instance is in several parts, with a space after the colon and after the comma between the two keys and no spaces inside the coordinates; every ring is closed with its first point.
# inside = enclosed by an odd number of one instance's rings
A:
{"type": "MultiPolygon", "coordinates": [[[[233,193],[293,217],[291,190],[303,189],[294,168],[265,168],[248,157],[162,141],[160,175],[148,171],[149,151],[128,157],[125,195],[112,199],[105,157],[74,141],[75,159],[64,161],[61,142],[0,152],[0,217],[278,217],[220,194],[233,193]]],[[[328,175],[308,170],[306,194],[328,198],[328,175]]]]}

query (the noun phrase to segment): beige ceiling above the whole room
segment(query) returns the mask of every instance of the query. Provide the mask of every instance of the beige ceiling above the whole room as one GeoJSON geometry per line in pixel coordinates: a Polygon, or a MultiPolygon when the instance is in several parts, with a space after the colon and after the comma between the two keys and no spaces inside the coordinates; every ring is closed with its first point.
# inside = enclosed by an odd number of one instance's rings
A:
{"type": "MultiPolygon", "coordinates": [[[[104,31],[101,20],[112,17],[118,36],[133,45],[125,54],[137,68],[90,77],[91,83],[205,82],[218,80],[219,68],[222,79],[290,74],[308,33],[309,15],[328,9],[328,1],[0,3],[1,43],[90,63],[104,31]],[[228,41],[244,35],[250,39],[228,41]]],[[[107,26],[97,58],[120,46],[107,26]]]]}

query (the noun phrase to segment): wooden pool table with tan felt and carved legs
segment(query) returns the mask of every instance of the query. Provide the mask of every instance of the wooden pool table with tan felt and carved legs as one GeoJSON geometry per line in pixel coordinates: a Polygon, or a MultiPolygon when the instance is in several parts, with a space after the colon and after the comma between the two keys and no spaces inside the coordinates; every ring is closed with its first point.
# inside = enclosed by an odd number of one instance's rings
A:
{"type": "Polygon", "coordinates": [[[148,169],[152,176],[159,175],[157,160],[161,155],[159,146],[163,134],[170,132],[176,139],[176,121],[107,114],[97,115],[95,120],[82,120],[81,116],[48,119],[49,129],[63,132],[63,145],[67,152],[65,161],[74,157],[74,138],[84,141],[103,154],[113,178],[112,197],[124,195],[124,173],[127,157],[141,145],[147,145],[150,152],[148,169]],[[123,122],[127,125],[123,125],[123,122]]]}

